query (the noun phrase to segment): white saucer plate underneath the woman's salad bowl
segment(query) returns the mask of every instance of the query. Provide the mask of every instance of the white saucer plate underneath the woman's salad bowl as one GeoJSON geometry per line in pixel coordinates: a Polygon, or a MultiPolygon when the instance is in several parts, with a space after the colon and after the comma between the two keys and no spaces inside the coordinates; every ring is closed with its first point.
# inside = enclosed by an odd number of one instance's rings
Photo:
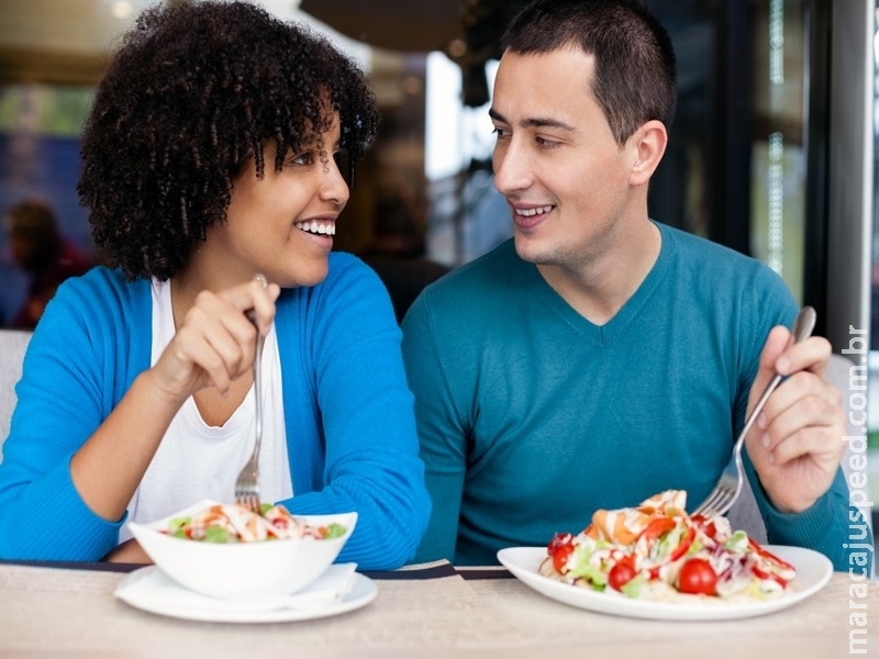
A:
{"type": "Polygon", "coordinates": [[[201,595],[179,585],[156,566],[141,568],[123,577],[113,593],[136,608],[189,621],[210,623],[288,623],[311,621],[347,613],[366,606],[378,594],[376,583],[354,573],[351,590],[337,602],[313,607],[266,608],[248,606],[234,597],[222,600],[201,595]]]}

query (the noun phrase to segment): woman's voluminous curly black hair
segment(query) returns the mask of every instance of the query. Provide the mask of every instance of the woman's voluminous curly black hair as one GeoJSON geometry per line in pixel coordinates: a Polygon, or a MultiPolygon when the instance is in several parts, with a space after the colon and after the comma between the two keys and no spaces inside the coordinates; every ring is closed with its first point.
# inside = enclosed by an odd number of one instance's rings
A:
{"type": "Polygon", "coordinates": [[[379,116],[351,57],[247,2],[147,9],[99,83],[81,135],[77,192],[102,260],[132,280],[170,279],[205,230],[225,221],[247,159],[262,177],[274,139],[279,171],[334,112],[353,181],[379,116]]]}

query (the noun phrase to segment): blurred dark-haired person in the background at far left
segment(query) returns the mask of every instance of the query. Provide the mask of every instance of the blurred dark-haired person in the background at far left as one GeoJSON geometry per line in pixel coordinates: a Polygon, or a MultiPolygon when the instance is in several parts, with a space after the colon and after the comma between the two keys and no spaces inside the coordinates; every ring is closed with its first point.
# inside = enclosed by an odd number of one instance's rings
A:
{"type": "Polygon", "coordinates": [[[33,330],[58,286],[65,279],[84,275],[92,263],[58,232],[55,211],[38,199],[10,206],[5,224],[12,259],[31,278],[24,302],[9,325],[33,330]]]}

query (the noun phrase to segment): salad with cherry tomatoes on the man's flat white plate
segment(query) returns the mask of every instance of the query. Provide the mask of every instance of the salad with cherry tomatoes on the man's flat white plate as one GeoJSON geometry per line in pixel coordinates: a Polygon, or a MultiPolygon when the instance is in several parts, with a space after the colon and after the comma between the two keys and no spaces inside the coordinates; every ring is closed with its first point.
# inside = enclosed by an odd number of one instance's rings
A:
{"type": "Polygon", "coordinates": [[[539,571],[576,587],[628,597],[769,599],[797,576],[721,515],[686,512],[687,493],[667,490],[634,509],[599,510],[579,535],[558,533],[539,571]]]}

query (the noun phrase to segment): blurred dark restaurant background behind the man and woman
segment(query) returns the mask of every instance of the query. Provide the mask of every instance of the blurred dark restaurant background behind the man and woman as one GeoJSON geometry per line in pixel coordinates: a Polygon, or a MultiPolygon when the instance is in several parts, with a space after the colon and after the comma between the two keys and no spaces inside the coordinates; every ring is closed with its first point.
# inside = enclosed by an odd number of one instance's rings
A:
{"type": "MultiPolygon", "coordinates": [[[[153,3],[0,4],[0,210],[43,199],[62,233],[91,257],[75,192],[78,133],[114,41],[153,3]]],[[[383,123],[358,168],[336,248],[376,268],[402,315],[425,282],[511,235],[492,187],[487,108],[500,34],[522,2],[259,3],[327,32],[369,72],[383,123]]],[[[879,291],[875,0],[648,4],[675,42],[680,97],[650,188],[652,216],[767,263],[817,309],[817,332],[837,353],[855,334],[864,337],[869,354],[849,356],[858,368],[864,359],[872,381],[879,375],[879,304],[871,304],[879,291]]],[[[0,233],[0,325],[27,284],[0,233]]],[[[874,449],[877,412],[879,404],[869,405],[874,449]]]]}

